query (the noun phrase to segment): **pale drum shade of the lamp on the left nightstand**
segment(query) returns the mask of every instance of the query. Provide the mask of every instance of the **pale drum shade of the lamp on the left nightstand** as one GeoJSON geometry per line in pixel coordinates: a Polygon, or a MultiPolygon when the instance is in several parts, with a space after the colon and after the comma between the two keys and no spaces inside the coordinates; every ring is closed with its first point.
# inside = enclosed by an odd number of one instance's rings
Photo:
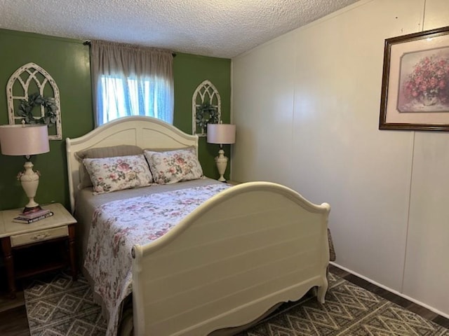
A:
{"type": "Polygon", "coordinates": [[[47,125],[1,125],[0,146],[4,155],[35,155],[50,151],[47,125]]]}

